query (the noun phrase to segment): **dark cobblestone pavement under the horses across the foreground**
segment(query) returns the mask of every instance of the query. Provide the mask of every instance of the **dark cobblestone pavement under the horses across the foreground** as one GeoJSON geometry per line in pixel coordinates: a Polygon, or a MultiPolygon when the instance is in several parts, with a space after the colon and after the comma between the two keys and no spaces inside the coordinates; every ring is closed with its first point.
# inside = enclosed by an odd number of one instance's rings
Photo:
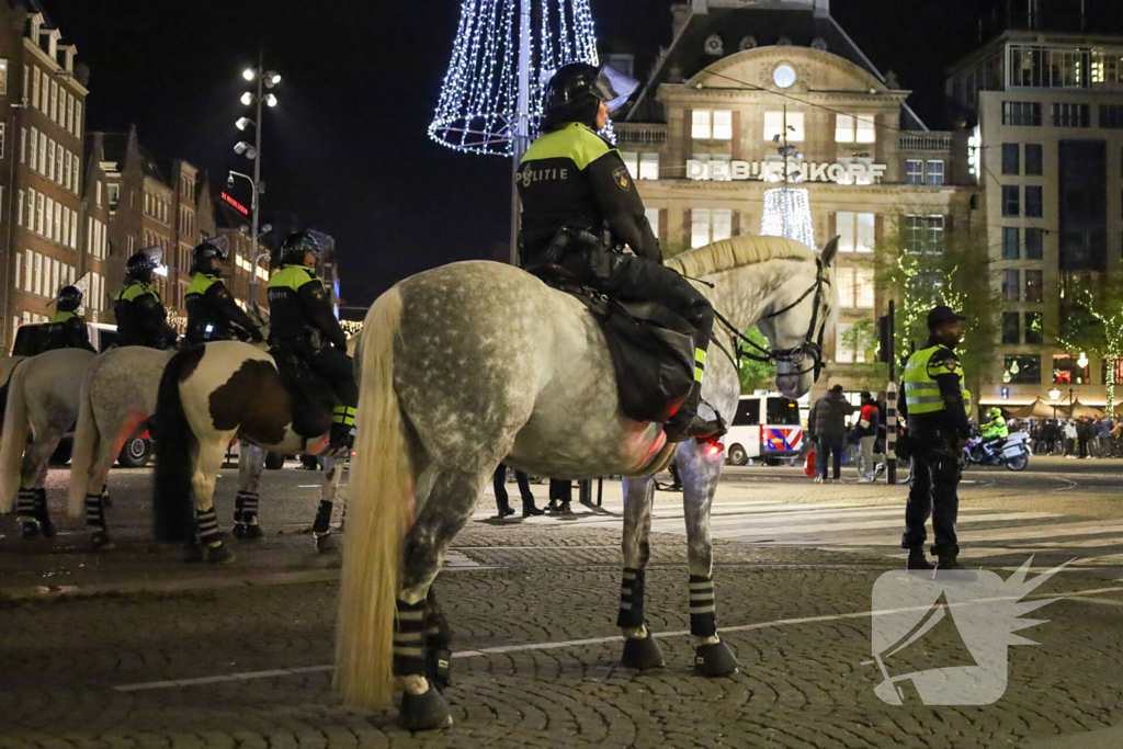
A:
{"type": "MultiPolygon", "coordinates": [[[[882,676],[864,661],[870,591],[896,559],[719,539],[719,624],[741,672],[711,681],[691,672],[682,636],[683,538],[656,533],[647,613],[666,634],[667,666],[638,674],[619,666],[614,639],[619,528],[588,512],[473,522],[457,538],[454,565],[437,583],[463,654],[447,693],[456,724],[411,737],[391,711],[351,710],[331,692],[337,557],[316,555],[298,533],[314,508],[314,474],[267,474],[270,536],[236,546],[238,561],[219,569],[183,565],[175,550],[143,540],[145,472],[112,481],[116,552],[82,552],[76,521],[53,546],[24,546],[10,519],[0,520],[0,586],[42,584],[61,569],[55,579],[80,592],[117,591],[0,597],[0,747],[958,748],[1057,736],[1080,746],[1083,732],[1123,723],[1123,581],[1101,568],[1061,573],[1039,590],[1066,596],[1037,616],[1048,623],[1022,632],[1040,645],[1011,648],[1010,686],[997,703],[929,707],[913,698],[893,707],[874,694],[882,676]]],[[[225,518],[232,482],[231,473],[220,482],[225,518]]],[[[677,502],[660,494],[668,513],[677,502]]],[[[604,509],[612,511],[608,500],[604,509]]],[[[933,630],[895,670],[965,655],[953,630],[933,630]]]]}

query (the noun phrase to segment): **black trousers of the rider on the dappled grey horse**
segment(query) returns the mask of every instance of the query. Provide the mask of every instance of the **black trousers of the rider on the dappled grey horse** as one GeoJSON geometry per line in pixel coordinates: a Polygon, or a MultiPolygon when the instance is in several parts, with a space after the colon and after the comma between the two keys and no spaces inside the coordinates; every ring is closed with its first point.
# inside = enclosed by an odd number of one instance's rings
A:
{"type": "MultiPolygon", "coordinates": [[[[567,262],[563,265],[570,267],[567,262]]],[[[713,308],[686,278],[652,261],[613,253],[609,257],[608,277],[596,277],[582,268],[583,280],[593,289],[621,302],[657,302],[688,322],[697,335],[694,346],[705,349],[713,334],[713,308]]]]}

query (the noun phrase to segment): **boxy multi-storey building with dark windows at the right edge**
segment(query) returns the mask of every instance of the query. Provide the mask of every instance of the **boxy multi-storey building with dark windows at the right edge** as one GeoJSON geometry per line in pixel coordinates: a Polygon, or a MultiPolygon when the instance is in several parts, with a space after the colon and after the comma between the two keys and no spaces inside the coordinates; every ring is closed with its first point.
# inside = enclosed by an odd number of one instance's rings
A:
{"type": "Polygon", "coordinates": [[[1004,12],[947,79],[952,116],[971,135],[1002,300],[980,401],[1059,390],[1065,404],[1103,404],[1108,378],[1123,384],[1123,360],[1057,350],[1052,332],[1065,290],[1123,257],[1123,3],[1017,0],[1004,12]]]}

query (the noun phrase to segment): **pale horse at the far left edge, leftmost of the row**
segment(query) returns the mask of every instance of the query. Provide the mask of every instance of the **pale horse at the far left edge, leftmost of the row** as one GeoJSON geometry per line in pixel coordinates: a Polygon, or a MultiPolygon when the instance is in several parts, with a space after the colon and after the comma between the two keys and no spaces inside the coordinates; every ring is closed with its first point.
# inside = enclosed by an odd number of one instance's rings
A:
{"type": "Polygon", "coordinates": [[[95,356],[84,348],[45,351],[19,362],[8,382],[0,435],[0,513],[16,505],[24,538],[56,535],[47,511],[47,466],[58,440],[77,419],[76,385],[95,356]]]}

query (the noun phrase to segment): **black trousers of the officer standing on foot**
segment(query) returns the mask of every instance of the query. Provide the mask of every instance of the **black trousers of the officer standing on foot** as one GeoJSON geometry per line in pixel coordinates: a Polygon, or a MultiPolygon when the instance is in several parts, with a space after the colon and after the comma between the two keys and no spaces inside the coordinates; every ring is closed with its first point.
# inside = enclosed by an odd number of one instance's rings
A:
{"type": "Polygon", "coordinates": [[[912,486],[905,504],[905,532],[901,548],[922,548],[928,533],[924,523],[932,518],[935,544],[932,554],[959,552],[956,518],[959,514],[959,456],[948,447],[947,438],[910,435],[913,448],[912,486]]]}

